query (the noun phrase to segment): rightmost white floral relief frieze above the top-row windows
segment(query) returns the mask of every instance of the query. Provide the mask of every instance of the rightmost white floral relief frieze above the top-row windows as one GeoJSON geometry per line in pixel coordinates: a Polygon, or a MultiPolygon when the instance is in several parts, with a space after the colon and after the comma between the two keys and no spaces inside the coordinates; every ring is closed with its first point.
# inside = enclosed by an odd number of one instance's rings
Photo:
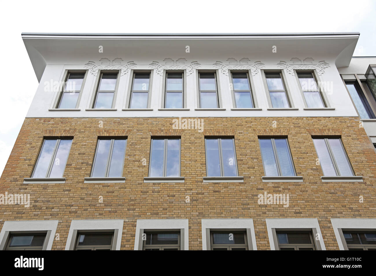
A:
{"type": "Polygon", "coordinates": [[[281,69],[285,69],[291,75],[294,75],[294,69],[316,69],[317,74],[322,75],[325,69],[330,67],[329,63],[324,60],[314,63],[312,57],[306,57],[303,61],[297,57],[293,57],[290,61],[290,63],[287,63],[281,60],[277,63],[277,66],[281,69]]]}

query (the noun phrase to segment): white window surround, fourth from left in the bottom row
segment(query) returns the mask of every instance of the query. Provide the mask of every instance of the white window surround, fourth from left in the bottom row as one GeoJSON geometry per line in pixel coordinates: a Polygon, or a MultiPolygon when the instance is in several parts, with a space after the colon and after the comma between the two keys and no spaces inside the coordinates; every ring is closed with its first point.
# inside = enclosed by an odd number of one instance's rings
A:
{"type": "Polygon", "coordinates": [[[257,250],[253,219],[202,219],[202,250],[210,250],[210,230],[245,230],[249,250],[257,250]]]}

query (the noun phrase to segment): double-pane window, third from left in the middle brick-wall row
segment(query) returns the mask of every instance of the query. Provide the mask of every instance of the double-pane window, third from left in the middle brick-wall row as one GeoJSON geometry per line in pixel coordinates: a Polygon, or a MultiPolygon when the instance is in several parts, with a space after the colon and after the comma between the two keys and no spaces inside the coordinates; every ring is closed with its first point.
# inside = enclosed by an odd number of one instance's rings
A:
{"type": "Polygon", "coordinates": [[[152,139],[149,176],[180,176],[180,139],[152,139]]]}

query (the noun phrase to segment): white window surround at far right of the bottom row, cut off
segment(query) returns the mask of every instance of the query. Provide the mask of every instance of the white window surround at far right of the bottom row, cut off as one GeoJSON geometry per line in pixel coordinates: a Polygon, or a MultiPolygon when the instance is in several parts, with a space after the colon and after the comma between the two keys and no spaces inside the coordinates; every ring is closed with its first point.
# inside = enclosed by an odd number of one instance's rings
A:
{"type": "Polygon", "coordinates": [[[376,219],[331,219],[331,222],[340,250],[348,250],[342,233],[343,229],[361,231],[376,229],[376,219]]]}

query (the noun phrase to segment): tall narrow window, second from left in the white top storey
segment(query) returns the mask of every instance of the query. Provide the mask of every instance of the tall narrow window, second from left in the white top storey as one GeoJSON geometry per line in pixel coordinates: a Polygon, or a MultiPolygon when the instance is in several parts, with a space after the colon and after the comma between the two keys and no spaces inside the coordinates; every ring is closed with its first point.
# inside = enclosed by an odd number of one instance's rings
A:
{"type": "Polygon", "coordinates": [[[101,73],[94,108],[110,109],[114,102],[118,73],[101,73]]]}

